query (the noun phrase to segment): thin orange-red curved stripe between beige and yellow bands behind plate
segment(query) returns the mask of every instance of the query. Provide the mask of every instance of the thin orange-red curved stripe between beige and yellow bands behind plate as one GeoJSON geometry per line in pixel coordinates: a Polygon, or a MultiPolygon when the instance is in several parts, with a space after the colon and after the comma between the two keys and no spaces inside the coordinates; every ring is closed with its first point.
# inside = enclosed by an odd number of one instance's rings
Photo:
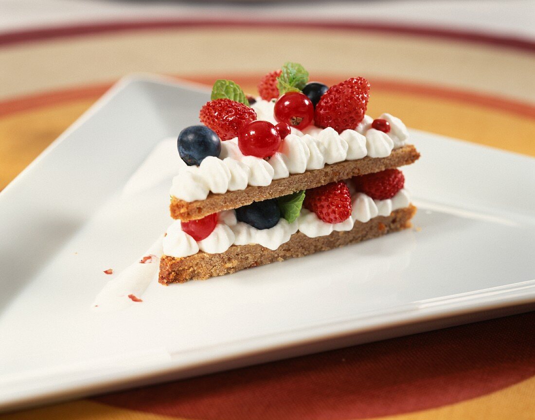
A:
{"type": "MultiPolygon", "coordinates": [[[[326,74],[324,76],[315,74],[314,76],[315,78],[323,80],[327,83],[335,83],[342,79],[337,78],[332,74],[326,74]]],[[[239,83],[247,83],[253,85],[256,84],[260,77],[261,75],[240,74],[236,75],[234,78],[230,78],[239,83]]],[[[201,77],[184,78],[184,80],[204,83],[206,85],[211,85],[216,79],[217,77],[208,75],[201,77]]],[[[417,83],[400,82],[384,79],[370,80],[372,83],[372,89],[441,98],[444,100],[483,106],[502,112],[509,112],[521,117],[535,118],[535,106],[521,101],[514,101],[499,96],[485,95],[472,91],[458,90],[453,88],[445,88],[431,85],[419,85],[417,83]]],[[[103,83],[95,86],[83,86],[80,88],[70,88],[40,93],[36,95],[15,97],[11,100],[0,102],[0,118],[17,112],[24,112],[36,108],[41,108],[43,106],[50,106],[90,98],[94,98],[96,100],[96,98],[100,97],[111,85],[112,83],[103,83]]]]}

